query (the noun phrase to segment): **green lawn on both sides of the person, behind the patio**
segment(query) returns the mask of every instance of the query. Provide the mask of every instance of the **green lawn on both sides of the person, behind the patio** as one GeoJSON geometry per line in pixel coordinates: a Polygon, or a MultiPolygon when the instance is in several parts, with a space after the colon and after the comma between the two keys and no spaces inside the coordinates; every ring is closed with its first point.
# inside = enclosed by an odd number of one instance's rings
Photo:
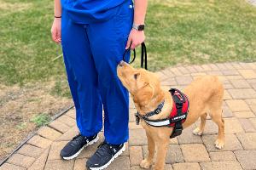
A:
{"type": "MultiPolygon", "coordinates": [[[[0,10],[0,82],[65,79],[62,59],[52,61],[61,54],[50,38],[53,0],[0,0],[0,10]]],[[[256,8],[244,0],[149,0],[146,25],[151,71],[256,60],[256,8]]]]}

